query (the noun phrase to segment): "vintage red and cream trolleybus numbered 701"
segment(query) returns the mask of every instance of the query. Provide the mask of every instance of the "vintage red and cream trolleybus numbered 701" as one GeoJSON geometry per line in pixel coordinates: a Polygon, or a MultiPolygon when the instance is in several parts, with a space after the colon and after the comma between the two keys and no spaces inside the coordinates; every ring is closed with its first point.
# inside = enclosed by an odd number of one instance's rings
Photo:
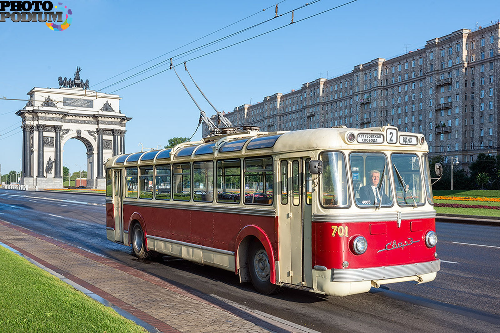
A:
{"type": "Polygon", "coordinates": [[[427,144],[395,127],[213,136],[114,156],[106,178],[109,240],[263,294],[345,296],[440,267],[427,144]]]}

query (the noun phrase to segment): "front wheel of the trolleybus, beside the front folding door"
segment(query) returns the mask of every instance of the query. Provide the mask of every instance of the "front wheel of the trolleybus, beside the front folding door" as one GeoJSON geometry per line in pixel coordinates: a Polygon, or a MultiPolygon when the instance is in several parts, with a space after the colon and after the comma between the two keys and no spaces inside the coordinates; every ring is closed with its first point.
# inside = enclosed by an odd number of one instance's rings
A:
{"type": "Polygon", "coordinates": [[[269,278],[271,265],[264,247],[259,242],[250,245],[248,256],[248,269],[250,270],[253,288],[260,294],[270,295],[279,290],[277,285],[270,283],[269,278]]]}

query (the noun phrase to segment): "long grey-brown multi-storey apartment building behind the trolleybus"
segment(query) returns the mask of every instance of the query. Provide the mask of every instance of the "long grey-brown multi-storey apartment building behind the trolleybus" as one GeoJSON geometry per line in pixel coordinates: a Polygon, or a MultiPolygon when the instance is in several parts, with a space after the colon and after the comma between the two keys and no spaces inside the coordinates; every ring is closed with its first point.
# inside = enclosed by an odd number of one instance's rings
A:
{"type": "MultiPolygon", "coordinates": [[[[422,133],[432,155],[468,164],[499,151],[500,23],[460,29],[391,59],[375,58],[334,78],[225,113],[263,131],[391,124],[422,133]]],[[[203,136],[208,135],[203,126],[203,136]]]]}

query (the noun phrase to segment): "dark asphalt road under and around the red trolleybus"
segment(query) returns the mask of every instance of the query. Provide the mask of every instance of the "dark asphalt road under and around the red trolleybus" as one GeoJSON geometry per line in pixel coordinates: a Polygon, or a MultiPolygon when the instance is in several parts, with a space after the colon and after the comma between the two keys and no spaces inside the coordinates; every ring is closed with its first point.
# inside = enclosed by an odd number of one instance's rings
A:
{"type": "Polygon", "coordinates": [[[287,288],[262,296],[227,271],[172,257],[136,259],[106,239],[104,214],[103,196],[0,189],[4,221],[320,332],[500,332],[499,227],[437,223],[441,271],[430,283],[343,298],[287,288]]]}

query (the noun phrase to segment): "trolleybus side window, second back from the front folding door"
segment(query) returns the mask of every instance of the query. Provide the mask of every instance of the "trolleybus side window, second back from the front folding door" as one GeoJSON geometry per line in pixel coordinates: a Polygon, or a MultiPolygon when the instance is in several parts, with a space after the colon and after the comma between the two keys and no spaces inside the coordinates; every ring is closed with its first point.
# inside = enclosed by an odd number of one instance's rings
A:
{"type": "Polygon", "coordinates": [[[239,204],[241,197],[239,159],[217,161],[217,202],[239,204]]]}

